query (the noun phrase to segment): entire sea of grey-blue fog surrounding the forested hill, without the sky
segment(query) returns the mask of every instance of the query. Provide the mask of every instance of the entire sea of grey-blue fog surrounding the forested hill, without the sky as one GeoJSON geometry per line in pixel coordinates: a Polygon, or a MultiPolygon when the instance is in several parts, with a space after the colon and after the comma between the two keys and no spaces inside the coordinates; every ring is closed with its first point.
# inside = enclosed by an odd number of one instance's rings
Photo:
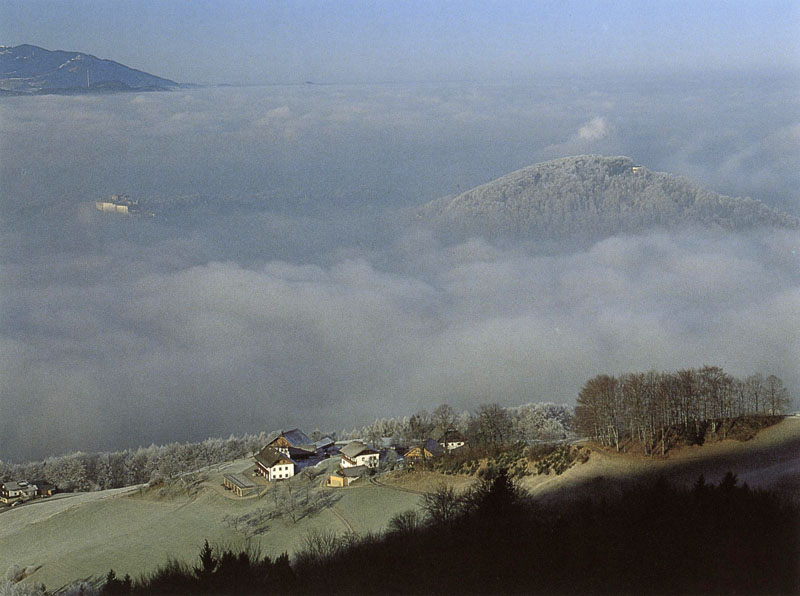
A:
{"type": "Polygon", "coordinates": [[[386,224],[576,153],[800,213],[792,86],[673,83],[3,99],[0,458],[571,403],[705,363],[800,394],[797,232],[553,250],[386,224]],[[260,199],[124,220],[91,208],[112,192],[260,199]]]}

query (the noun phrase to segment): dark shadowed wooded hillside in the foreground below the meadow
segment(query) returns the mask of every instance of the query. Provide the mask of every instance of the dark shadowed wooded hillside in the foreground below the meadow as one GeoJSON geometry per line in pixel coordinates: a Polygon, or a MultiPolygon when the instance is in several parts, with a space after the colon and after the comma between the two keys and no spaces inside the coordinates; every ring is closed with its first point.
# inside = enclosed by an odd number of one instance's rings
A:
{"type": "Polygon", "coordinates": [[[441,488],[382,536],[312,534],[289,565],[204,548],[106,593],[792,594],[800,509],[728,474],[664,480],[541,506],[500,472],[465,496],[441,488]]]}

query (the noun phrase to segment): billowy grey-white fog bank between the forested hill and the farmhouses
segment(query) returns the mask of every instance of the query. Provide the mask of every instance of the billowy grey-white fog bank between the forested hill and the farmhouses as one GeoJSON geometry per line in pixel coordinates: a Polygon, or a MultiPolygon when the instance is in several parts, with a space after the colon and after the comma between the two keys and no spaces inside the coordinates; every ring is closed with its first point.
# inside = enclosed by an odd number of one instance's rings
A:
{"type": "Polygon", "coordinates": [[[3,268],[5,457],[335,429],[442,402],[574,402],[600,372],[709,363],[800,387],[797,233],[543,256],[409,232],[328,265],[133,274],[128,248],[3,268]]]}

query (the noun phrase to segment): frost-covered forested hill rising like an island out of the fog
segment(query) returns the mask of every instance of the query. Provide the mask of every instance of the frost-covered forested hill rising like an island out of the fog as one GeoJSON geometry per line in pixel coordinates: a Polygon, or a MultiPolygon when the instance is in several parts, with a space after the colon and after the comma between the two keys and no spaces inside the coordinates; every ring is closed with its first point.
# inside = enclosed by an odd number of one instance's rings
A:
{"type": "Polygon", "coordinates": [[[529,166],[424,205],[418,218],[453,238],[598,238],[652,227],[797,228],[758,200],[732,198],[628,157],[581,155],[529,166]]]}

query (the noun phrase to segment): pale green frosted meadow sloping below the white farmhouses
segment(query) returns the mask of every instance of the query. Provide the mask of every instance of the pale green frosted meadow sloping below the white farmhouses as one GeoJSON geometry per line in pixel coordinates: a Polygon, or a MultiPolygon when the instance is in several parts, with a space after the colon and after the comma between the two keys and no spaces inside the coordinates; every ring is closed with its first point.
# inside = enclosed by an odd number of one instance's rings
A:
{"type": "MultiPolygon", "coordinates": [[[[212,473],[194,496],[134,492],[109,498],[111,491],[103,491],[7,511],[0,515],[0,573],[13,563],[40,565],[27,581],[55,589],[76,579],[105,575],[110,568],[120,576],[136,577],[169,557],[194,563],[205,539],[244,546],[246,538],[224,517],[271,507],[272,499],[269,493],[261,499],[233,499],[219,484],[222,473],[250,465],[234,462],[212,473]]],[[[415,507],[419,500],[418,495],[369,484],[337,494],[341,499],[336,509],[359,532],[381,529],[391,515],[415,507]]],[[[324,509],[296,524],[288,518],[274,520],[252,543],[267,554],[291,553],[312,528],[346,529],[339,517],[324,509]]]]}

